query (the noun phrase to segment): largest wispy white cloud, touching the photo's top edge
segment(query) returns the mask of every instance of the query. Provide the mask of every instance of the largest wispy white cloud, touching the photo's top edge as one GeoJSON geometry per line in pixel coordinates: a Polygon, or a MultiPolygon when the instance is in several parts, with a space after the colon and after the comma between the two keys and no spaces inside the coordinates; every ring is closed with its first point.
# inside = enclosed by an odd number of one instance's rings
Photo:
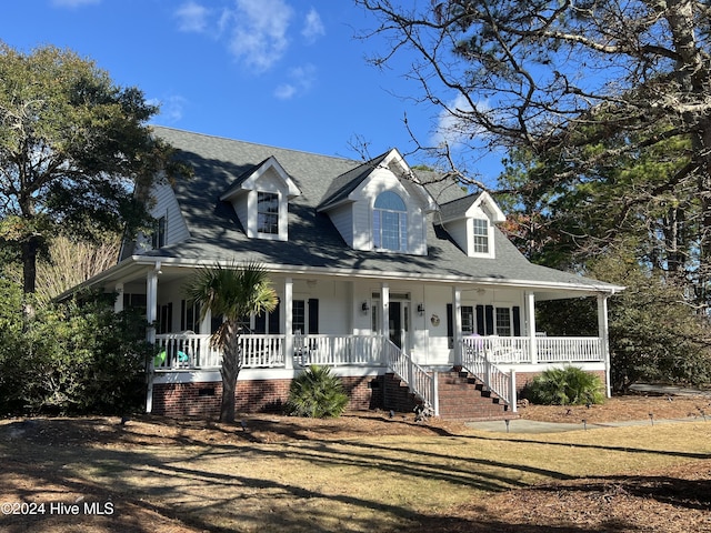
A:
{"type": "Polygon", "coordinates": [[[283,0],[236,0],[230,51],[247,67],[269,70],[289,47],[292,14],[283,0]]]}

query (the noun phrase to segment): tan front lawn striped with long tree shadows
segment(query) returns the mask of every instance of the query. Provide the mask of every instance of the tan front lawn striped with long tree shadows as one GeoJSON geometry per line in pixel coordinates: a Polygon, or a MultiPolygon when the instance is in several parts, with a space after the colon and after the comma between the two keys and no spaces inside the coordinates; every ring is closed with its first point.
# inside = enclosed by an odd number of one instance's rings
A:
{"type": "Polygon", "coordinates": [[[4,420],[0,531],[711,531],[708,399],[647,401],[637,418],[694,418],[541,435],[377,412],[4,420]]]}

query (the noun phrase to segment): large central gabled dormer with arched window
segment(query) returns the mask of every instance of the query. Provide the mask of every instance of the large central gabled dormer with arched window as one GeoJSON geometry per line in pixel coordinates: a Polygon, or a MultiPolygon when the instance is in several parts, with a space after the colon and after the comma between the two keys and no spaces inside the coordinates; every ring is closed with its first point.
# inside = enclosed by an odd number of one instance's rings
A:
{"type": "Polygon", "coordinates": [[[317,209],[354,250],[427,255],[437,203],[393,149],[339,175],[317,209]]]}

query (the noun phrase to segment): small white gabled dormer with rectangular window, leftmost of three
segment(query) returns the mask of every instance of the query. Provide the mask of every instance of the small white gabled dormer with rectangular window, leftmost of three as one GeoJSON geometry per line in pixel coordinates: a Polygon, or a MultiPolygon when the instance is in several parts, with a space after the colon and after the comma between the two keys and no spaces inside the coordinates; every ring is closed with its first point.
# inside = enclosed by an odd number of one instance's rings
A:
{"type": "Polygon", "coordinates": [[[289,200],[300,194],[279,161],[270,157],[240,175],[220,200],[232,204],[250,239],[286,241],[289,200]]]}

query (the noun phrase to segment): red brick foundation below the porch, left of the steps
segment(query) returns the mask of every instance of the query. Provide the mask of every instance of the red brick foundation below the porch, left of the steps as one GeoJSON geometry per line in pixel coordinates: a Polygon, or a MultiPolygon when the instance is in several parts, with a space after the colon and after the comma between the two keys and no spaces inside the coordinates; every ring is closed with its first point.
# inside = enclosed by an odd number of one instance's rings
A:
{"type": "MultiPolygon", "coordinates": [[[[344,376],[350,398],[348,410],[382,408],[382,376],[344,376]]],[[[238,381],[234,410],[238,413],[280,413],[289,399],[291,380],[238,381]]],[[[153,385],[153,414],[217,419],[220,415],[222,382],[157,383],[153,385]]]]}

